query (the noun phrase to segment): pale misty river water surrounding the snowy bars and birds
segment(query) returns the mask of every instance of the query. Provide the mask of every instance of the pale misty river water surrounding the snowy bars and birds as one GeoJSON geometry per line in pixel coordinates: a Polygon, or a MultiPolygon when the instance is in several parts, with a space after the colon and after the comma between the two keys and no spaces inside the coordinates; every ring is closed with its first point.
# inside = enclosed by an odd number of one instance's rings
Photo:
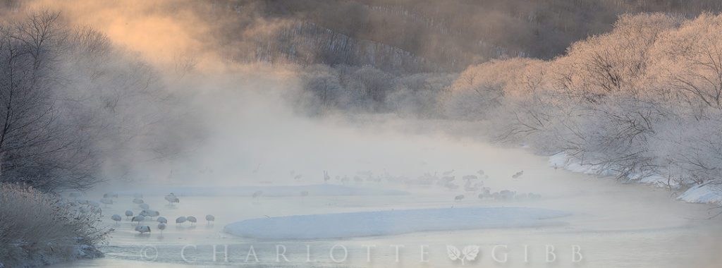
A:
{"type": "MultiPolygon", "coordinates": [[[[438,144],[437,141],[438,137],[399,139],[392,142],[393,146],[427,145],[417,149],[409,146],[407,151],[398,150],[373,160],[388,165],[393,165],[394,161],[417,163],[419,174],[448,167],[454,168],[457,176],[462,176],[484,168],[490,176],[484,180],[485,186],[492,191],[534,192],[542,198],[502,202],[466,194],[466,199],[454,202],[453,197],[463,194],[463,189],[451,191],[435,186],[423,188],[386,182],[350,183],[349,186],[402,189],[412,194],[261,196],[256,199],[251,196],[180,196],[181,203],[174,207],[168,206],[163,196],[145,196],[145,202],[160,210],[171,222],[181,215],[195,215],[199,222],[195,226],[188,222],[183,226],[170,223],[162,233],[155,230],[155,222],[150,222],[148,225],[154,228],[152,233],[139,235],[125,217],[119,225],[109,219],[109,215],[123,215],[126,209],[134,207],[131,196],[120,196],[116,204],[103,209],[104,223],[116,229],[108,243],[100,248],[105,252],[105,258],[52,267],[606,268],[718,267],[721,263],[718,257],[722,244],[718,235],[721,220],[706,220],[710,212],[714,212],[708,205],[677,202],[666,189],[557,170],[549,167],[546,157],[532,155],[523,149],[499,148],[467,140],[443,140],[438,144]],[[424,159],[419,155],[424,155],[424,159]],[[524,175],[511,178],[518,170],[524,170],[524,175]],[[223,227],[230,222],[256,217],[452,206],[541,207],[572,215],[560,219],[564,225],[544,228],[448,230],[311,241],[258,241],[223,232],[223,227]],[[207,224],[206,214],[214,215],[216,221],[207,224]],[[465,259],[462,264],[449,256],[448,245],[460,250],[469,245],[479,246],[479,254],[474,260],[465,259]],[[255,254],[251,254],[251,247],[255,254]]],[[[334,180],[331,183],[340,184],[334,180]]]]}

